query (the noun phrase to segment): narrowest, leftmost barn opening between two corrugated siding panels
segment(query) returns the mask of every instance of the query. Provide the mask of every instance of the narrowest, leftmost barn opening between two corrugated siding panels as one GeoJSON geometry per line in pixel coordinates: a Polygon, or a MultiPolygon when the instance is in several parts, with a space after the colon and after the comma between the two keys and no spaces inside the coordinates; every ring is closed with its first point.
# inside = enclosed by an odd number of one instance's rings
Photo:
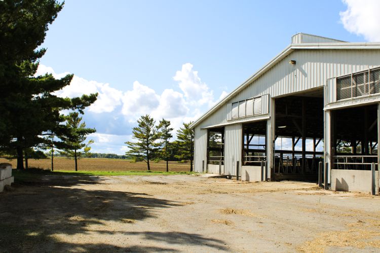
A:
{"type": "Polygon", "coordinates": [[[207,131],[207,171],[224,174],[224,127],[207,131]]]}

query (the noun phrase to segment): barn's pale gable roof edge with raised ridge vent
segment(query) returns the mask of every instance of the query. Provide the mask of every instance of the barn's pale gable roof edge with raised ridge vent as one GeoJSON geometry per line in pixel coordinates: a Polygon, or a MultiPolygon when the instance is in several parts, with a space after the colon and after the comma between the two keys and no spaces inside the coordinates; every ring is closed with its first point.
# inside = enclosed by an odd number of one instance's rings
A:
{"type": "Polygon", "coordinates": [[[275,64],[280,62],[294,50],[299,49],[380,49],[380,42],[342,42],[330,38],[320,37],[317,35],[307,34],[307,33],[297,33],[293,35],[293,38],[299,34],[306,34],[318,38],[324,38],[326,41],[332,40],[337,42],[322,42],[322,43],[291,43],[288,47],[286,47],[283,51],[281,51],[277,56],[275,56],[272,60],[270,60],[267,64],[262,66],[255,74],[249,77],[246,81],[244,81],[241,85],[239,85],[235,90],[230,92],[227,96],[217,102],[209,111],[199,117],[196,121],[194,121],[189,127],[194,128],[203,120],[208,118],[212,113],[218,110],[221,106],[223,106],[227,101],[229,101],[232,97],[238,94],[240,91],[245,89],[248,85],[262,76],[265,72],[271,69],[275,64]]]}

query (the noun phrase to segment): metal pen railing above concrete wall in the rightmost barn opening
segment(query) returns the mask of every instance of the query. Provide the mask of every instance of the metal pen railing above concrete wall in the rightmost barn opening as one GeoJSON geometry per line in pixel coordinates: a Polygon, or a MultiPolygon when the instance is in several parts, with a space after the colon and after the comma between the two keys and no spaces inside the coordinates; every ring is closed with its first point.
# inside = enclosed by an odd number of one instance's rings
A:
{"type": "Polygon", "coordinates": [[[334,169],[371,170],[371,164],[378,165],[377,155],[338,155],[333,157],[334,169]]]}

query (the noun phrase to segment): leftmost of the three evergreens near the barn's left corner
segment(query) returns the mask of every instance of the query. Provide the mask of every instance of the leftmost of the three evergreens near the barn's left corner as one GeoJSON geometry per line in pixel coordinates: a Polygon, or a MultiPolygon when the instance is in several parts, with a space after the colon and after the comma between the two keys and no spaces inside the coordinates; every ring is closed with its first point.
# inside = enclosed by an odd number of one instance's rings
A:
{"type": "Polygon", "coordinates": [[[150,170],[149,161],[156,157],[157,147],[160,146],[160,143],[156,142],[160,138],[160,133],[157,131],[156,121],[149,115],[141,116],[137,123],[138,126],[132,130],[132,138],[136,142],[125,142],[130,149],[126,155],[135,161],[145,161],[147,169],[150,170]]]}

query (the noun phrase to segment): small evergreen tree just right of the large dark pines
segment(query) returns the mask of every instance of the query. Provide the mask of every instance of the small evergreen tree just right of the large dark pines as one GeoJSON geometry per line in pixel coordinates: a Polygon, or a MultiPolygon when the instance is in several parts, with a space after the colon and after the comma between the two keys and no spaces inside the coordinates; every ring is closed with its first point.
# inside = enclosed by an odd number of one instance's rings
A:
{"type": "Polygon", "coordinates": [[[73,157],[75,160],[75,171],[78,171],[78,159],[88,156],[91,150],[90,144],[94,143],[92,139],[84,143],[87,135],[96,132],[96,130],[86,128],[86,123],[82,122],[82,117],[79,117],[78,112],[69,113],[65,119],[69,134],[61,137],[66,146],[61,154],[66,157],[73,157]]]}

